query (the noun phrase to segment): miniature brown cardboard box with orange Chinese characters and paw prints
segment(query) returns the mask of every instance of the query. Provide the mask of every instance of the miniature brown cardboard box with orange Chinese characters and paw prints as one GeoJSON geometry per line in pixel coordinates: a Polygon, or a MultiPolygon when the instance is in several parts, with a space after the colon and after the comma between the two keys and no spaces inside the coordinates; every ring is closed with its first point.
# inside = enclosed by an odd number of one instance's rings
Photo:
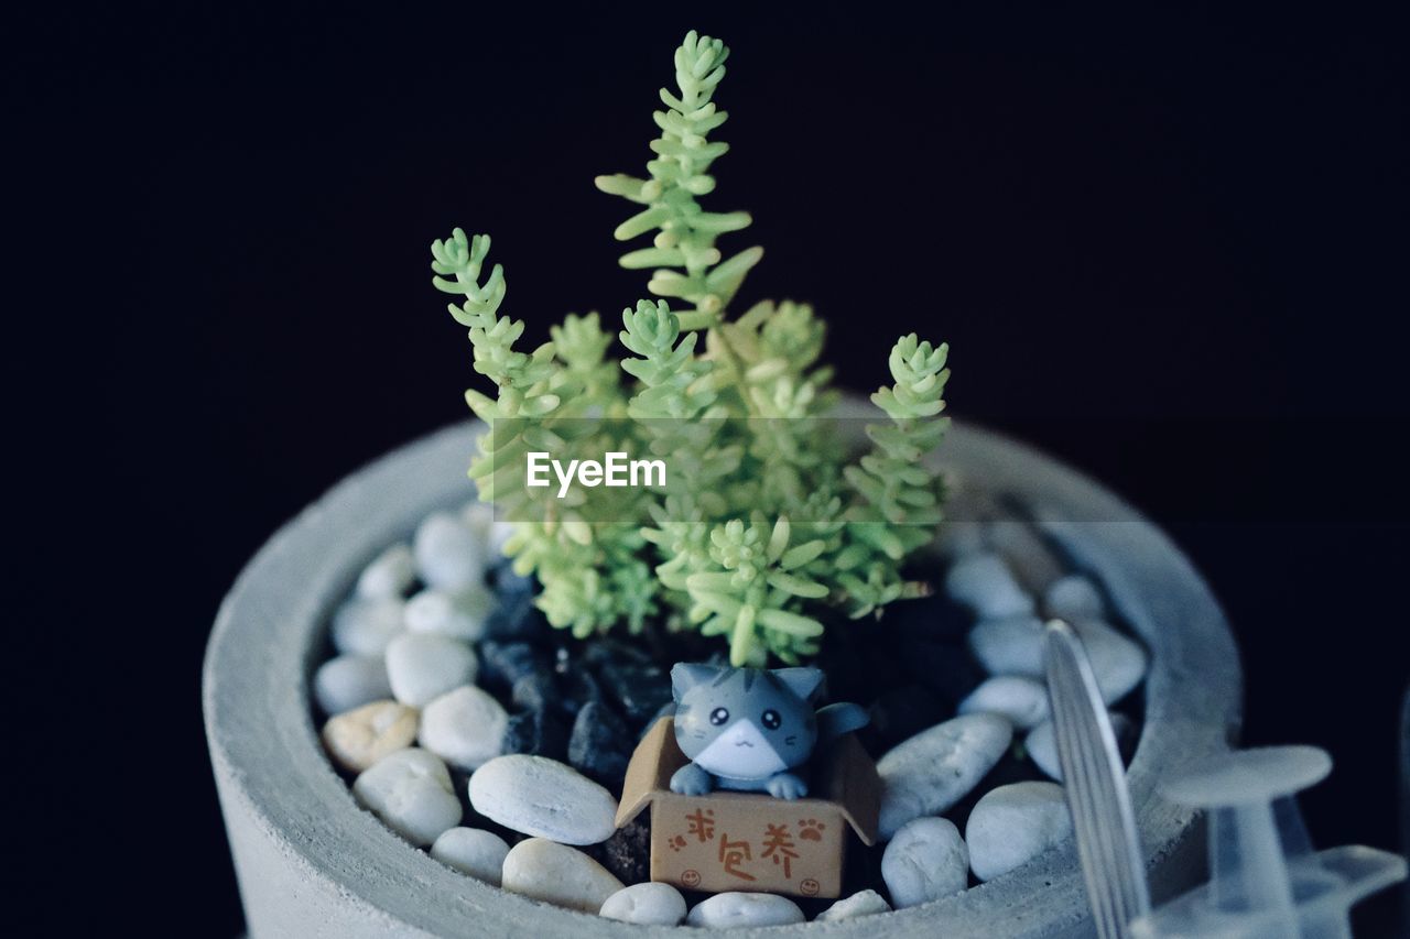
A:
{"type": "Polygon", "coordinates": [[[776,799],[767,792],[671,792],[671,774],[689,763],[675,728],[661,718],[632,754],[618,828],[651,806],[651,880],[689,890],[753,890],[838,897],[847,828],[876,843],[881,781],[850,733],[814,759],[809,792],[826,798],[776,799]]]}

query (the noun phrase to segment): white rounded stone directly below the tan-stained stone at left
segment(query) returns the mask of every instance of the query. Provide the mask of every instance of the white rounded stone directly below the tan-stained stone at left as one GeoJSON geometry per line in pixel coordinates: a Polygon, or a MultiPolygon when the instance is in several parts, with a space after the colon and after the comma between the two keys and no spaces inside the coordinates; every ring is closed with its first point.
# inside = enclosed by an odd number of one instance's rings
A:
{"type": "Polygon", "coordinates": [[[433,753],[398,750],[352,782],[352,795],[393,832],[417,847],[460,825],[460,799],[450,771],[433,753]]]}

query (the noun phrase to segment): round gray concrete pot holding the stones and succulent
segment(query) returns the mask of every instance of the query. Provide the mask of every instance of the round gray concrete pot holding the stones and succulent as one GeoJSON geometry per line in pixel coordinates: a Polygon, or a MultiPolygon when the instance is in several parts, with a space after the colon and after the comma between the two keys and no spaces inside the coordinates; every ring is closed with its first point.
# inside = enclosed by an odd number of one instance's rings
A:
{"type": "MultiPolygon", "coordinates": [[[[329,613],[386,544],[409,537],[427,512],[470,498],[474,433],[471,423],[450,427],[351,475],[269,540],[220,609],[206,654],[206,735],[257,938],[673,932],[557,909],[443,867],[361,811],[319,746],[309,677],[326,654],[329,613]]],[[[1241,673],[1214,598],[1160,532],[1034,450],[956,424],[942,464],[1034,506],[1073,560],[1104,579],[1151,649],[1145,729],[1129,781],[1156,898],[1184,888],[1203,864],[1201,830],[1155,785],[1162,768],[1224,750],[1237,735],[1241,673]]],[[[924,907],[747,932],[770,939],[1093,935],[1072,845],[924,907]]]]}

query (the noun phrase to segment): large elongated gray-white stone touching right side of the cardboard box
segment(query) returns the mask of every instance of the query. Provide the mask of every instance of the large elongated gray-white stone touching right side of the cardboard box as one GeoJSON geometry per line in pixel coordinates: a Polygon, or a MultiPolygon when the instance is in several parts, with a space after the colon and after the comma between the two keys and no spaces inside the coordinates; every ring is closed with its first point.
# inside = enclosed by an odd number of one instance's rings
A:
{"type": "Polygon", "coordinates": [[[922,730],[877,761],[881,812],[877,830],[890,839],[922,815],[939,815],[994,768],[1014,726],[994,713],[967,713],[922,730]]]}

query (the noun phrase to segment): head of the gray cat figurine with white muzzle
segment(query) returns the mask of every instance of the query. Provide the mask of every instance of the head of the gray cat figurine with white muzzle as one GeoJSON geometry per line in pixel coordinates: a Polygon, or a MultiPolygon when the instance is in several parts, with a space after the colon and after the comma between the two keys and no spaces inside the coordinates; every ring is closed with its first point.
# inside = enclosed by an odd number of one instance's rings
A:
{"type": "Polygon", "coordinates": [[[763,781],[802,764],[818,742],[808,698],[816,668],[671,668],[675,742],[697,766],[735,781],[763,781]]]}

